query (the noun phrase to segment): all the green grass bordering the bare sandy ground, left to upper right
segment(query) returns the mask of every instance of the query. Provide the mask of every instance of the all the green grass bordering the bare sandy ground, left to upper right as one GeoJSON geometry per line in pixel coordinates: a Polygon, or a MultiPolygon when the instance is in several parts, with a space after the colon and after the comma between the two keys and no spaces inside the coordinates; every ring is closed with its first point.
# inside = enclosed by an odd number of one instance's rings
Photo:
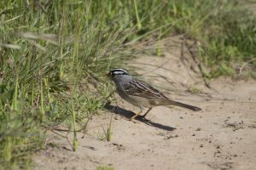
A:
{"type": "Polygon", "coordinates": [[[31,167],[58,124],[76,150],[76,132],[112,92],[104,75],[140,53],[138,41],[201,42],[208,78],[256,69],[256,20],[232,0],[12,0],[0,2],[0,16],[0,169],[31,167]]]}

